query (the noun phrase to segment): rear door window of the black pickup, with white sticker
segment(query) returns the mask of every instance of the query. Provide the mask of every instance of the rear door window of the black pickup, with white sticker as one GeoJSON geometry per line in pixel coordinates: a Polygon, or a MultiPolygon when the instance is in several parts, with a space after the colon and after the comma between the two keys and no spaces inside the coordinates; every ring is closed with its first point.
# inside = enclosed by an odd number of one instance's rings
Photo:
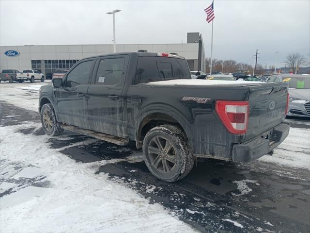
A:
{"type": "Polygon", "coordinates": [[[96,84],[114,85],[121,81],[124,73],[125,58],[100,60],[96,75],[96,84]]]}

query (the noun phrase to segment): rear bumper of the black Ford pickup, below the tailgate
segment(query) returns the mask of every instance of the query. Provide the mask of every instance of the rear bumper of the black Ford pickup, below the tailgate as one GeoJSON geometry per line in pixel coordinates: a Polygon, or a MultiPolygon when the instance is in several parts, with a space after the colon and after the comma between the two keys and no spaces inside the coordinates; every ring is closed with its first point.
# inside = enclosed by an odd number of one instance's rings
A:
{"type": "Polygon", "coordinates": [[[251,162],[275,149],[287,137],[290,125],[282,123],[266,132],[268,138],[259,137],[252,141],[233,145],[232,160],[236,162],[251,162]]]}

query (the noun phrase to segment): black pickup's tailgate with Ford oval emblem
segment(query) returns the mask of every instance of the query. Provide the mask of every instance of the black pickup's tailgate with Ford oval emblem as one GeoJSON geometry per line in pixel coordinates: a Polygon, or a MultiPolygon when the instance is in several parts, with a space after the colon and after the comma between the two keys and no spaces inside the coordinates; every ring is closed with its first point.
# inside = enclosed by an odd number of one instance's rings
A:
{"type": "Polygon", "coordinates": [[[283,122],[286,113],[288,85],[266,83],[260,88],[250,88],[248,97],[249,117],[245,141],[283,122]]]}

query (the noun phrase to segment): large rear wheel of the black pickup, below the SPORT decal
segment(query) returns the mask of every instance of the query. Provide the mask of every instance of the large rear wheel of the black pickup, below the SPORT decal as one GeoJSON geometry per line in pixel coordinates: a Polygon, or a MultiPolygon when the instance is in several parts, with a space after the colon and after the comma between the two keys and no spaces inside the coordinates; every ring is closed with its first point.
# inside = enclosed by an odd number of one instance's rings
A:
{"type": "Polygon", "coordinates": [[[173,125],[157,126],[145,135],[143,156],[151,173],[166,182],[182,179],[194,165],[186,134],[173,125]]]}

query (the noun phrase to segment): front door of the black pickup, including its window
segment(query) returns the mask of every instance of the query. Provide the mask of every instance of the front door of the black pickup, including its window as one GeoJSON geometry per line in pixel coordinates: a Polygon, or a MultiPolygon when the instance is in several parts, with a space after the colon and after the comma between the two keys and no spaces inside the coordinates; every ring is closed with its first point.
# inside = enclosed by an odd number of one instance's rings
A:
{"type": "Polygon", "coordinates": [[[56,89],[57,112],[62,123],[90,129],[87,90],[93,66],[94,59],[82,61],[65,75],[63,86],[56,89]]]}

